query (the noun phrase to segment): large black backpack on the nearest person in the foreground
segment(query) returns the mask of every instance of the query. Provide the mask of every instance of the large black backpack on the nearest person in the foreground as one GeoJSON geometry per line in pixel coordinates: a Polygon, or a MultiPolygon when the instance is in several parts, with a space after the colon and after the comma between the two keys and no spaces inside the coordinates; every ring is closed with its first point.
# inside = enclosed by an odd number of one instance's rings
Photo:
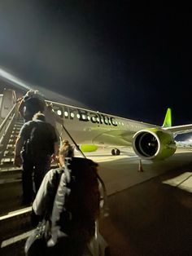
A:
{"type": "Polygon", "coordinates": [[[65,159],[51,221],[53,230],[59,227],[74,240],[88,242],[94,236],[100,200],[96,166],[94,161],[81,157],[65,159]]]}

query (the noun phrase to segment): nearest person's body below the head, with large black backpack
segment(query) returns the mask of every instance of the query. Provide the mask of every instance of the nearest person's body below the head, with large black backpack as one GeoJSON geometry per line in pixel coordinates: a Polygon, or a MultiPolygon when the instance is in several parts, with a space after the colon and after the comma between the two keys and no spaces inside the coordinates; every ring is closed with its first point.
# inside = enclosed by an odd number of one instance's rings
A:
{"type": "MultiPolygon", "coordinates": [[[[89,251],[99,216],[98,164],[81,157],[65,158],[50,170],[33,201],[33,214],[51,223],[43,240],[25,244],[25,255],[81,256],[89,251]]],[[[92,254],[86,254],[92,255],[92,254]]]]}

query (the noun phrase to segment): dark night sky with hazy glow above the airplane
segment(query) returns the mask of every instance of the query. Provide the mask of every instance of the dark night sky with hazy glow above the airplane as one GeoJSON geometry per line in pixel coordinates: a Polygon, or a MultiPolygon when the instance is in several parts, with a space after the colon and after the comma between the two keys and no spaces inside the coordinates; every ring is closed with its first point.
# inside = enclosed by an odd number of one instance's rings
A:
{"type": "Polygon", "coordinates": [[[0,0],[0,66],[103,113],[162,125],[171,107],[173,125],[192,123],[186,11],[128,0],[0,0]]]}

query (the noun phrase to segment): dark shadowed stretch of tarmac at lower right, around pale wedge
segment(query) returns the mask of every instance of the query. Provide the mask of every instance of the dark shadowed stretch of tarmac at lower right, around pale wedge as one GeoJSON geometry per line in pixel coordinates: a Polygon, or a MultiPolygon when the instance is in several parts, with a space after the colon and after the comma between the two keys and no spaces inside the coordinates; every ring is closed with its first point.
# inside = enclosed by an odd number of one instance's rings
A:
{"type": "Polygon", "coordinates": [[[111,256],[192,255],[192,195],[162,183],[189,168],[108,196],[109,217],[101,218],[100,231],[111,256]]]}

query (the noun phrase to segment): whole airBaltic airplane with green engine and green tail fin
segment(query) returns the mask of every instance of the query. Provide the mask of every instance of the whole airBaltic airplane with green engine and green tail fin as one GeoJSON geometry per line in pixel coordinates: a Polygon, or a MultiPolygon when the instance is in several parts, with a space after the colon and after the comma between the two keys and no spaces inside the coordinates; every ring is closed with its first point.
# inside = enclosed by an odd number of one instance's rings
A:
{"type": "MultiPolygon", "coordinates": [[[[110,147],[111,154],[120,155],[120,149],[133,147],[143,160],[158,161],[171,157],[177,149],[175,137],[192,131],[192,124],[172,126],[172,110],[167,109],[163,126],[116,117],[77,108],[67,104],[53,104],[63,118],[63,124],[82,152],[94,152],[98,147],[110,147]]],[[[62,133],[61,126],[57,126],[62,133]]]]}

